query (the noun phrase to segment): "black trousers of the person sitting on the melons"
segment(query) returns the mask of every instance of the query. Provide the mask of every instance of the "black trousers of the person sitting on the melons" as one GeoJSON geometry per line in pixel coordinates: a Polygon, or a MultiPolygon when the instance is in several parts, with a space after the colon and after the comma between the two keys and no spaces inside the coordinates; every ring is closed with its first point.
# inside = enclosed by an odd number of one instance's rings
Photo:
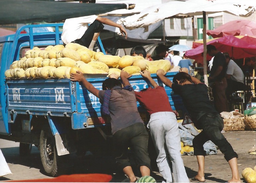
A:
{"type": "Polygon", "coordinates": [[[100,21],[95,20],[92,24],[90,24],[90,26],[85,31],[82,38],[76,39],[72,42],[73,43],[78,43],[78,44],[83,45],[83,46],[88,48],[90,46],[91,42],[92,42],[94,33],[101,32],[103,30],[103,28],[104,28],[104,25],[100,21]]]}

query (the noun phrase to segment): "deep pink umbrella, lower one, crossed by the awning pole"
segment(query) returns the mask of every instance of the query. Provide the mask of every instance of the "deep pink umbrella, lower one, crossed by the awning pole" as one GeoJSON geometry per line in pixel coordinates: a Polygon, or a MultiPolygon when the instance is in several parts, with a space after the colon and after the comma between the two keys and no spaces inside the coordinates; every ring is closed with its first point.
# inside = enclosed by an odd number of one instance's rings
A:
{"type": "MultiPolygon", "coordinates": [[[[228,52],[234,59],[245,57],[253,57],[256,55],[256,45],[238,39],[235,36],[225,36],[219,39],[214,39],[206,44],[214,45],[221,52],[228,52]]],[[[200,45],[192,50],[186,51],[186,56],[191,59],[200,57],[203,53],[203,45],[200,45]]]]}

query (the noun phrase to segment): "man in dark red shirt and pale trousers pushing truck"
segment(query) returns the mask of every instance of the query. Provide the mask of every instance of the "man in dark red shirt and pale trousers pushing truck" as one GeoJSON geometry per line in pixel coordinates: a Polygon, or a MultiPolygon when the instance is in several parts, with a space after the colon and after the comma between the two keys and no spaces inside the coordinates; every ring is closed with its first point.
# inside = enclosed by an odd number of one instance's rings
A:
{"type": "MultiPolygon", "coordinates": [[[[180,153],[181,138],[179,125],[176,115],[172,111],[165,89],[156,84],[148,70],[140,73],[143,77],[147,78],[152,85],[152,88],[149,87],[139,92],[135,91],[135,96],[137,101],[145,107],[150,115],[148,127],[157,152],[156,162],[159,172],[166,182],[189,182],[180,153]],[[172,173],[164,148],[165,143],[171,156],[174,181],[172,181],[172,173]]],[[[129,77],[130,75],[124,72],[122,77],[124,86],[130,86],[128,81],[129,77]]]]}

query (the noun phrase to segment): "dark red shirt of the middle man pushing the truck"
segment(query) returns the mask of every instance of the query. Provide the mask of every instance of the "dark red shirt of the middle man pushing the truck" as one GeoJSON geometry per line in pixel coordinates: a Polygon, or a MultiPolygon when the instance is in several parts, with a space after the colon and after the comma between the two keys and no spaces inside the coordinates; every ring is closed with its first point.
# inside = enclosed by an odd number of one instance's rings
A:
{"type": "Polygon", "coordinates": [[[135,96],[149,115],[157,112],[173,112],[166,91],[161,86],[135,91],[135,96]]]}

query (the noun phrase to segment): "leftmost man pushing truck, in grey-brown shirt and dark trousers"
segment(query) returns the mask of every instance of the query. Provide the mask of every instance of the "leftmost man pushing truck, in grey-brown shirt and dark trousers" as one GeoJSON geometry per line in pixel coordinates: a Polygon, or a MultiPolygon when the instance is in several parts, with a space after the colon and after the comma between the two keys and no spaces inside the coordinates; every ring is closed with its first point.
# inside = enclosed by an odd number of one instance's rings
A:
{"type": "MultiPolygon", "coordinates": [[[[123,78],[121,72],[120,77],[123,78]]],[[[134,90],[131,86],[122,88],[115,78],[107,78],[102,83],[103,90],[96,89],[89,83],[83,73],[76,71],[70,74],[71,81],[78,81],[100,99],[103,114],[110,115],[113,141],[118,151],[116,162],[128,176],[130,182],[136,182],[131,163],[128,158],[128,147],[134,155],[135,163],[142,176],[150,175],[150,159],[148,154],[149,134],[145,128],[137,108],[134,90]]]]}

